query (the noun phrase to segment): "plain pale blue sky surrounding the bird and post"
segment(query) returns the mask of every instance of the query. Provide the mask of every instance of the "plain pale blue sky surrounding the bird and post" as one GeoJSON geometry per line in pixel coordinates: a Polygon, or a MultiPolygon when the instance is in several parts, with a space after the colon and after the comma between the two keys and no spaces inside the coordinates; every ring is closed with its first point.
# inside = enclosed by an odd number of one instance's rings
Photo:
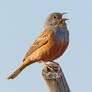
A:
{"type": "Polygon", "coordinates": [[[6,80],[21,63],[52,12],[67,12],[70,44],[56,60],[71,92],[92,92],[91,0],[0,0],[0,92],[49,92],[41,75],[43,64],[27,67],[6,80]]]}

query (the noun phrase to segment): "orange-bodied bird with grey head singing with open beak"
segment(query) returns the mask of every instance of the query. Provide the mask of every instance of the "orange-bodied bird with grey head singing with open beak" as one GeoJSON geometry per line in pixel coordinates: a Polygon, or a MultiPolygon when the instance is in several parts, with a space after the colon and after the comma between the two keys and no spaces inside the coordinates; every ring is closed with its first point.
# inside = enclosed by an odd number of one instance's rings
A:
{"type": "Polygon", "coordinates": [[[69,31],[66,20],[63,18],[66,13],[53,12],[48,15],[44,24],[44,31],[37,37],[35,42],[28,49],[22,64],[7,78],[14,79],[27,66],[41,62],[54,62],[63,55],[69,45],[69,31]]]}

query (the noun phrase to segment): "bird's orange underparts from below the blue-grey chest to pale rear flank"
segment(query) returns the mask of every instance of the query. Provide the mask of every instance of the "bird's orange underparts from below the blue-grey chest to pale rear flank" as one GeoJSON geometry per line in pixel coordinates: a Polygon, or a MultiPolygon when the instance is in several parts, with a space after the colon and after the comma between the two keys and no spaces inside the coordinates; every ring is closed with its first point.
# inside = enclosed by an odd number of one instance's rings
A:
{"type": "Polygon", "coordinates": [[[48,42],[32,53],[29,58],[31,61],[53,61],[54,59],[60,57],[68,46],[68,40],[61,42],[57,40],[52,32],[48,36],[48,42]]]}

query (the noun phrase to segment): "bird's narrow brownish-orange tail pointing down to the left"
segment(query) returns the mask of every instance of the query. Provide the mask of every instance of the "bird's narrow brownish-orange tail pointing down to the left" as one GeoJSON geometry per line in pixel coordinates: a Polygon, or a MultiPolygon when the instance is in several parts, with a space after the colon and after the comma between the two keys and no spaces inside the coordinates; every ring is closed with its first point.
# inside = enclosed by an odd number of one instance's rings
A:
{"type": "Polygon", "coordinates": [[[17,77],[20,72],[25,68],[24,64],[21,64],[7,79],[14,79],[15,77],[17,77]]]}

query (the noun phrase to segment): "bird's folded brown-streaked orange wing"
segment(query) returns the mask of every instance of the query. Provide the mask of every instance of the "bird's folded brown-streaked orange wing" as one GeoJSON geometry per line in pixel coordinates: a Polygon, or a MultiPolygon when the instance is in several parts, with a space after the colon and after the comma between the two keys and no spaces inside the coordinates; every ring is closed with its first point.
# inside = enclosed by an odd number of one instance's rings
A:
{"type": "MultiPolygon", "coordinates": [[[[29,48],[28,52],[26,53],[24,60],[30,56],[33,52],[35,52],[37,49],[42,47],[43,45],[48,43],[48,37],[51,34],[51,30],[45,30],[32,44],[32,46],[29,48]]],[[[23,60],[23,61],[24,61],[23,60]]]]}

